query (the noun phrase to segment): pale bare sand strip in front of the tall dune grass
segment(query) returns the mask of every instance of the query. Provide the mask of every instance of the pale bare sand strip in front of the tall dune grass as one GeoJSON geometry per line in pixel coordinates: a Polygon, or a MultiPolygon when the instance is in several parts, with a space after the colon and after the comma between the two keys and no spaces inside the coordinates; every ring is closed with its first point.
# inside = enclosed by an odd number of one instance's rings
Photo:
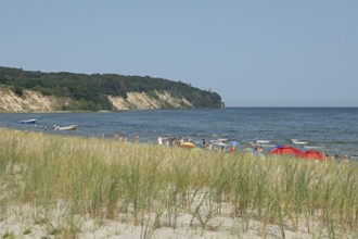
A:
{"type": "MultiPolygon", "coordinates": [[[[154,228],[154,214],[146,214],[142,218],[142,226],[135,226],[133,216],[120,214],[116,219],[93,219],[75,216],[67,218],[64,206],[54,211],[34,210],[30,206],[14,207],[1,215],[0,235],[2,238],[66,238],[77,231],[75,238],[282,238],[278,225],[263,225],[255,219],[246,222],[243,218],[232,218],[229,215],[215,216],[209,219],[205,229],[202,229],[197,219],[189,213],[180,213],[177,217],[177,228],[161,226],[154,228]],[[266,228],[266,229],[264,229],[266,228]]],[[[285,238],[329,238],[327,228],[319,223],[310,225],[310,232],[301,218],[299,229],[295,231],[290,224],[284,226],[285,238]]],[[[356,238],[357,235],[340,234],[338,238],[356,238]]]]}

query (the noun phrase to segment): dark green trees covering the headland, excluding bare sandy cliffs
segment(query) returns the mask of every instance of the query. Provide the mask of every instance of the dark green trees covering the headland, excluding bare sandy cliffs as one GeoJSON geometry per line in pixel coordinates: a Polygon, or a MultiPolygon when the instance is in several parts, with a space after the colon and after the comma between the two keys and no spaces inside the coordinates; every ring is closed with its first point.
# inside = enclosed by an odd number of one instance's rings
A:
{"type": "Polygon", "coordinates": [[[194,108],[221,106],[221,98],[216,92],[150,76],[41,73],[0,66],[0,85],[11,87],[17,96],[22,96],[24,89],[31,89],[44,96],[68,97],[80,102],[77,109],[63,110],[113,110],[107,95],[127,98],[127,92],[136,91],[155,97],[155,90],[166,90],[172,96],[186,98],[194,108]]]}

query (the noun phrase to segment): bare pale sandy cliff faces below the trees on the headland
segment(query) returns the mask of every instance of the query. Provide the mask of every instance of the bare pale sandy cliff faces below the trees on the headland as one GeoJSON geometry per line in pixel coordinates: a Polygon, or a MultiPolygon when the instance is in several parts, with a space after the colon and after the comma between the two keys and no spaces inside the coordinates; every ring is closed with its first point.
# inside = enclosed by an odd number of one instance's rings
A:
{"type": "MultiPolygon", "coordinates": [[[[193,106],[184,98],[172,97],[167,91],[156,92],[157,97],[151,97],[145,92],[128,92],[127,99],[116,96],[107,96],[114,109],[120,110],[149,110],[193,106]]],[[[56,98],[42,96],[37,91],[24,90],[18,97],[9,88],[0,88],[0,112],[55,112],[62,111],[63,106],[76,103],[69,98],[56,98]]]]}

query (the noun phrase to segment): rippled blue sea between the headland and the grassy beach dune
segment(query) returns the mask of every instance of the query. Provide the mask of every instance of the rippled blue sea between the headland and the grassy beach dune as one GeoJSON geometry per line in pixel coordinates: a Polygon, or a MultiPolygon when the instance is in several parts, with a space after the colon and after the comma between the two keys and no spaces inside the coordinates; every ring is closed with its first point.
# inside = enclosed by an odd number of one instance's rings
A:
{"type": "Polygon", "coordinates": [[[241,148],[254,140],[265,152],[276,144],[302,150],[321,149],[330,154],[358,155],[358,108],[227,108],[203,110],[150,110],[106,113],[0,113],[0,126],[49,134],[84,137],[113,137],[114,133],[133,140],[155,142],[158,135],[190,137],[200,143],[217,138],[234,139],[241,148]],[[37,118],[36,125],[20,124],[37,118]],[[78,125],[78,131],[53,130],[53,125],[78,125]],[[299,139],[307,144],[295,144],[299,139]]]}

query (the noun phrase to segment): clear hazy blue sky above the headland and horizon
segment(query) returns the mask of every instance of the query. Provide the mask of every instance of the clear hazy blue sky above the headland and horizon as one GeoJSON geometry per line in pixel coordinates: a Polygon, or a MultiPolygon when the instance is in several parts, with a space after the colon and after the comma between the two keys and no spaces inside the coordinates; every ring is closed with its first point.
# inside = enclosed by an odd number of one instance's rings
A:
{"type": "Polygon", "coordinates": [[[163,77],[227,106],[358,106],[357,0],[8,0],[0,65],[163,77]]]}

